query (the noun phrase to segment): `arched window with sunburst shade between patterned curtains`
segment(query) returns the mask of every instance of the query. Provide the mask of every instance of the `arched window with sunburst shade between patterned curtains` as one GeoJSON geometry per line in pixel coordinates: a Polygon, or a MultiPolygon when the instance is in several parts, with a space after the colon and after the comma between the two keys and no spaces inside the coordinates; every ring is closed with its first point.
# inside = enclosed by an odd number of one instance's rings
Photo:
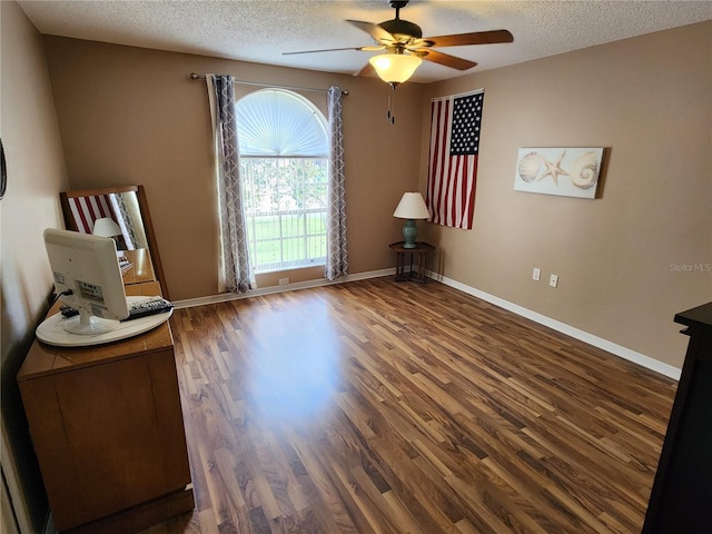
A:
{"type": "Polygon", "coordinates": [[[309,100],[284,89],[255,91],[235,108],[255,273],[324,265],[326,119],[309,100]]]}

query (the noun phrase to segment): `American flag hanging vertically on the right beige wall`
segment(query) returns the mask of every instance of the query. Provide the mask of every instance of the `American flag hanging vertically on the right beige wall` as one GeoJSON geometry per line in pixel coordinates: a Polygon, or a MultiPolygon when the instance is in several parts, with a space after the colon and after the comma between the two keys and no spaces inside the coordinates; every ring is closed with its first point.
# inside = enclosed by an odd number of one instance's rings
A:
{"type": "Polygon", "coordinates": [[[431,101],[427,207],[431,221],[472,229],[485,91],[431,101]]]}

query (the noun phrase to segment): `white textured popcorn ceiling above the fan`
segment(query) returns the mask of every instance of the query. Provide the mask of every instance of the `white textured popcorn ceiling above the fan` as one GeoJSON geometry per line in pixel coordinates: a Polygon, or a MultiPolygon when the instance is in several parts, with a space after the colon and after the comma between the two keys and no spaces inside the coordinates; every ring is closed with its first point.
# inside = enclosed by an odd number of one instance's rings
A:
{"type": "MultiPolygon", "coordinates": [[[[355,73],[378,52],[283,52],[373,44],[345,19],[383,22],[386,0],[20,1],[41,33],[199,53],[326,72],[355,73]]],[[[476,61],[462,72],[425,61],[413,81],[528,61],[712,19],[712,1],[412,0],[400,18],[424,37],[507,29],[514,42],[442,49],[476,61]]],[[[684,60],[684,58],[681,58],[684,60]]]]}

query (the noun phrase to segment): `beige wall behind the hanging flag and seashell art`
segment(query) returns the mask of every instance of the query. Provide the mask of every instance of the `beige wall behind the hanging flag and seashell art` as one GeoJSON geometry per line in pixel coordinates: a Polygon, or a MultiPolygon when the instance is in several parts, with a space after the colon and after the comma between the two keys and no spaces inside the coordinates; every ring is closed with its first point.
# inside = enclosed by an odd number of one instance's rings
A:
{"type": "Polygon", "coordinates": [[[711,34],[705,22],[427,86],[424,125],[432,97],[485,88],[474,229],[426,229],[439,273],[680,367],[673,316],[712,300],[711,34]],[[520,147],[566,146],[607,148],[600,199],[513,190],[520,147]]]}

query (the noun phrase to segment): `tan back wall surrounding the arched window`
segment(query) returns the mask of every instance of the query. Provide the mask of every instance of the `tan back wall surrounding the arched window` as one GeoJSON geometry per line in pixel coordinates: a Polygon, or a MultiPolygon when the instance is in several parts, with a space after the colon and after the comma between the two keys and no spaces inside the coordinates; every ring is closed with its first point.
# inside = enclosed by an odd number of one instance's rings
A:
{"type": "MultiPolygon", "coordinates": [[[[349,90],[344,99],[349,273],[393,265],[387,245],[399,237],[392,217],[416,187],[422,87],[398,90],[398,120],[386,116],[385,83],[376,79],[260,66],[57,37],[46,51],[72,189],[141,184],[172,299],[217,293],[216,197],[205,81],[190,72],[349,90]]],[[[257,88],[238,86],[240,92],[257,88]]],[[[325,109],[326,96],[304,92],[325,109]]],[[[274,274],[323,278],[323,269],[274,274]]]]}

